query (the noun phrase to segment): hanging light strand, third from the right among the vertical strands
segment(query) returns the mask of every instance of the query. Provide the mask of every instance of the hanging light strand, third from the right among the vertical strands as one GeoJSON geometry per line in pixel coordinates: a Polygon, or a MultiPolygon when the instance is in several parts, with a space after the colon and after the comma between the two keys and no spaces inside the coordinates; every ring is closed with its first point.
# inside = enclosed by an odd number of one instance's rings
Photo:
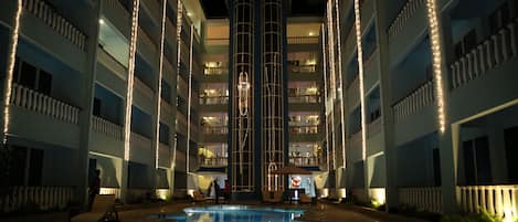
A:
{"type": "Polygon", "coordinates": [[[341,158],[342,167],[346,168],[346,119],[343,106],[343,78],[341,71],[341,33],[340,33],[340,12],[338,8],[338,0],[335,0],[335,10],[337,17],[337,38],[338,38],[338,96],[340,96],[340,113],[341,113],[341,158]]]}

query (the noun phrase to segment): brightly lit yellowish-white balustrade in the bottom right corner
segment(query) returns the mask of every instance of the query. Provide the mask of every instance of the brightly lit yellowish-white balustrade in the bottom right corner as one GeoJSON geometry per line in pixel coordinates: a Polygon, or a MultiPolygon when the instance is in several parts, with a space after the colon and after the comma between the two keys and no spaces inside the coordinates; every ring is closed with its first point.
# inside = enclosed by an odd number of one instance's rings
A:
{"type": "Polygon", "coordinates": [[[464,212],[518,218],[518,186],[457,187],[457,204],[464,212]]]}

